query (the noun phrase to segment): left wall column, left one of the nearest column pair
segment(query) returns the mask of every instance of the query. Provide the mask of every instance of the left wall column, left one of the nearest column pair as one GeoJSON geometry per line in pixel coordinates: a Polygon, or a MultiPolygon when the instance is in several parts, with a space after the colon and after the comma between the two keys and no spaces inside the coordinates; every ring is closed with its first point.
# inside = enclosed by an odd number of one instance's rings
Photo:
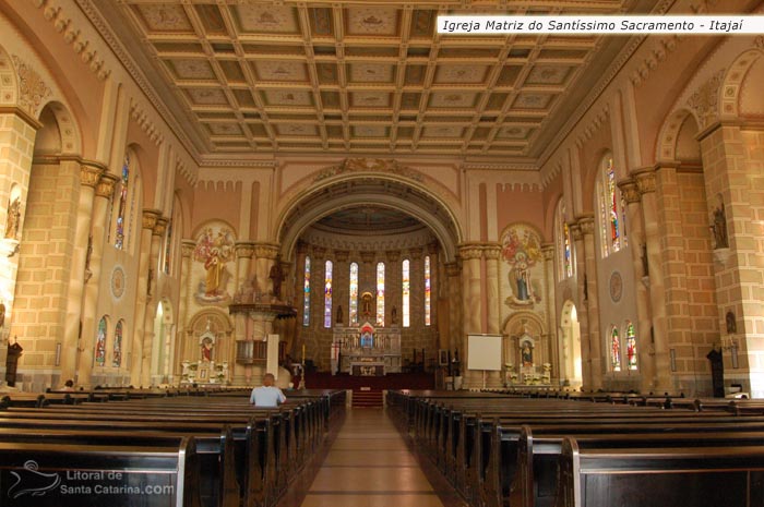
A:
{"type": "Polygon", "coordinates": [[[82,318],[82,297],[85,283],[85,264],[87,263],[87,246],[93,218],[93,201],[95,186],[104,169],[88,165],[80,166],[80,201],[77,203],[76,225],[74,226],[74,246],[72,250],[72,271],[67,295],[67,314],[61,347],[61,383],[74,378],[77,373],[77,360],[81,350],[82,360],[87,362],[93,350],[80,348],[80,323],[82,318]]]}

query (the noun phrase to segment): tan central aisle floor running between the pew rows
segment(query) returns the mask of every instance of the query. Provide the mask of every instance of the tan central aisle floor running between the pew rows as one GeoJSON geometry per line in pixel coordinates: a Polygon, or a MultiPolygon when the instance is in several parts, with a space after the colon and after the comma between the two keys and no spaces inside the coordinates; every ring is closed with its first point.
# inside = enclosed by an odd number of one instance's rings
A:
{"type": "Polygon", "coordinates": [[[464,505],[447,484],[440,484],[444,481],[432,476],[437,488],[383,409],[348,410],[302,507],[464,505]]]}

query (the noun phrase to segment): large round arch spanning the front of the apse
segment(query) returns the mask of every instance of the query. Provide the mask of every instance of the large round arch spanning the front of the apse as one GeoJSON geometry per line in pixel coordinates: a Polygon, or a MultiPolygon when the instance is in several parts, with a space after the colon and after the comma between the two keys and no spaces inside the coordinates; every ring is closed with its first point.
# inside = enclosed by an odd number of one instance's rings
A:
{"type": "Polygon", "coordinates": [[[293,258],[298,238],[317,220],[358,205],[397,209],[419,219],[443,246],[445,262],[455,261],[463,234],[455,214],[442,200],[404,178],[363,172],[321,181],[285,207],[276,229],[282,258],[293,258]]]}

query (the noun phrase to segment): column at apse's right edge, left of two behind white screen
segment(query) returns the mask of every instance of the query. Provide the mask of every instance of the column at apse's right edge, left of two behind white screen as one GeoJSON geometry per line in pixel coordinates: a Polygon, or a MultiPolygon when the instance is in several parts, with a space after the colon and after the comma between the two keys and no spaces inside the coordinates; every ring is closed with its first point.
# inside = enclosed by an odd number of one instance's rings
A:
{"type": "Polygon", "coordinates": [[[468,243],[459,246],[459,256],[463,259],[462,268],[462,315],[464,316],[461,350],[463,387],[482,387],[482,372],[467,370],[468,351],[467,335],[482,333],[482,279],[480,264],[482,259],[482,245],[468,243]]]}

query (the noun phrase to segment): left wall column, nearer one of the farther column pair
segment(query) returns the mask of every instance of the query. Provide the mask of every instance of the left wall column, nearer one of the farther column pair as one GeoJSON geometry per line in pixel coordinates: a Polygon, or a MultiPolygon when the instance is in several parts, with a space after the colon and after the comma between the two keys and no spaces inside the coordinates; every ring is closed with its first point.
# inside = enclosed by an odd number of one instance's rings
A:
{"type": "MultiPolygon", "coordinates": [[[[146,319],[146,303],[148,302],[148,267],[152,254],[152,236],[156,227],[156,219],[159,218],[162,212],[157,209],[144,209],[141,220],[141,243],[139,244],[139,261],[138,261],[138,287],[135,290],[135,329],[133,329],[133,338],[130,353],[130,383],[139,387],[142,385],[143,374],[143,339],[144,326],[146,319]]],[[[147,352],[146,352],[147,353],[147,352]]],[[[148,387],[147,385],[144,387],[148,387]]]]}

